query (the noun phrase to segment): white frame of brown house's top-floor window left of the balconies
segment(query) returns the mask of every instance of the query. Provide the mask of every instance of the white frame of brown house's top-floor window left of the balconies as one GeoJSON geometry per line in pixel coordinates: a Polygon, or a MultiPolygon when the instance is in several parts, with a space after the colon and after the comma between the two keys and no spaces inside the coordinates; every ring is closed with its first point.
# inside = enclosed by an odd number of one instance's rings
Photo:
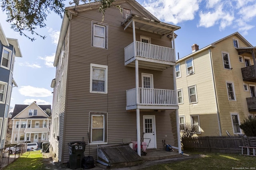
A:
{"type": "MultiPolygon", "coordinates": [[[[100,36],[98,36],[98,37],[100,37],[100,36]]],[[[92,41],[92,43],[91,43],[92,47],[108,49],[108,24],[92,21],[92,39],[91,39],[91,41],[92,41]],[[98,36],[98,35],[94,35],[95,26],[104,28],[104,37],[102,37],[102,38],[104,38],[104,47],[94,45],[94,37],[98,36]]]]}

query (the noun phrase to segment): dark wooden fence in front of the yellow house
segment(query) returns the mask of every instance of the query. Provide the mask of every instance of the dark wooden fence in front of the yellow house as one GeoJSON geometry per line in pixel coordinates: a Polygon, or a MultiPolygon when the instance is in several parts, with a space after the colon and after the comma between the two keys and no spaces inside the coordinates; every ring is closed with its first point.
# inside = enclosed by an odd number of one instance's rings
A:
{"type": "Polygon", "coordinates": [[[241,153],[239,146],[244,146],[242,136],[202,136],[182,139],[184,150],[199,152],[241,153]]]}

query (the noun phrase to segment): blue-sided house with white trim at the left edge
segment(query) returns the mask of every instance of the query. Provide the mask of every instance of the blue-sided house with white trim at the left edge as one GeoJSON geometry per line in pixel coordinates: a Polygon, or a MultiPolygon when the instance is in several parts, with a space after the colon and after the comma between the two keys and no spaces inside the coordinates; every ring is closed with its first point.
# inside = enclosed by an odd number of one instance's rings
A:
{"type": "Polygon", "coordinates": [[[12,88],[15,57],[22,57],[18,39],[6,38],[0,24],[0,149],[4,148],[12,88]]]}

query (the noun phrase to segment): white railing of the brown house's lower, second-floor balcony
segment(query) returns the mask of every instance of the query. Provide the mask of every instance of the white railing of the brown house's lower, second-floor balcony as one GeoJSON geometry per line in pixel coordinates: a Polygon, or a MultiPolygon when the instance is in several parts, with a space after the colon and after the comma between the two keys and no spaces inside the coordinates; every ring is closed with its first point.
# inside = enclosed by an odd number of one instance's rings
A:
{"type": "MultiPolygon", "coordinates": [[[[177,106],[176,90],[139,88],[140,105],[177,106]]],[[[126,106],[135,106],[136,88],[126,91],[126,106]]]]}

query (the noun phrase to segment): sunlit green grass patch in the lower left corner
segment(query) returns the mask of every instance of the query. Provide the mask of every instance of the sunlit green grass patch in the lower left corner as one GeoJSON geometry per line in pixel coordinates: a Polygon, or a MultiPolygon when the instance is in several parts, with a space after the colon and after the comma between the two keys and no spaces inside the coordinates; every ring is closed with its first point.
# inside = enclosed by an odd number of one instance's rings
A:
{"type": "Polygon", "coordinates": [[[40,150],[25,152],[3,170],[43,170],[43,158],[40,150]]]}

